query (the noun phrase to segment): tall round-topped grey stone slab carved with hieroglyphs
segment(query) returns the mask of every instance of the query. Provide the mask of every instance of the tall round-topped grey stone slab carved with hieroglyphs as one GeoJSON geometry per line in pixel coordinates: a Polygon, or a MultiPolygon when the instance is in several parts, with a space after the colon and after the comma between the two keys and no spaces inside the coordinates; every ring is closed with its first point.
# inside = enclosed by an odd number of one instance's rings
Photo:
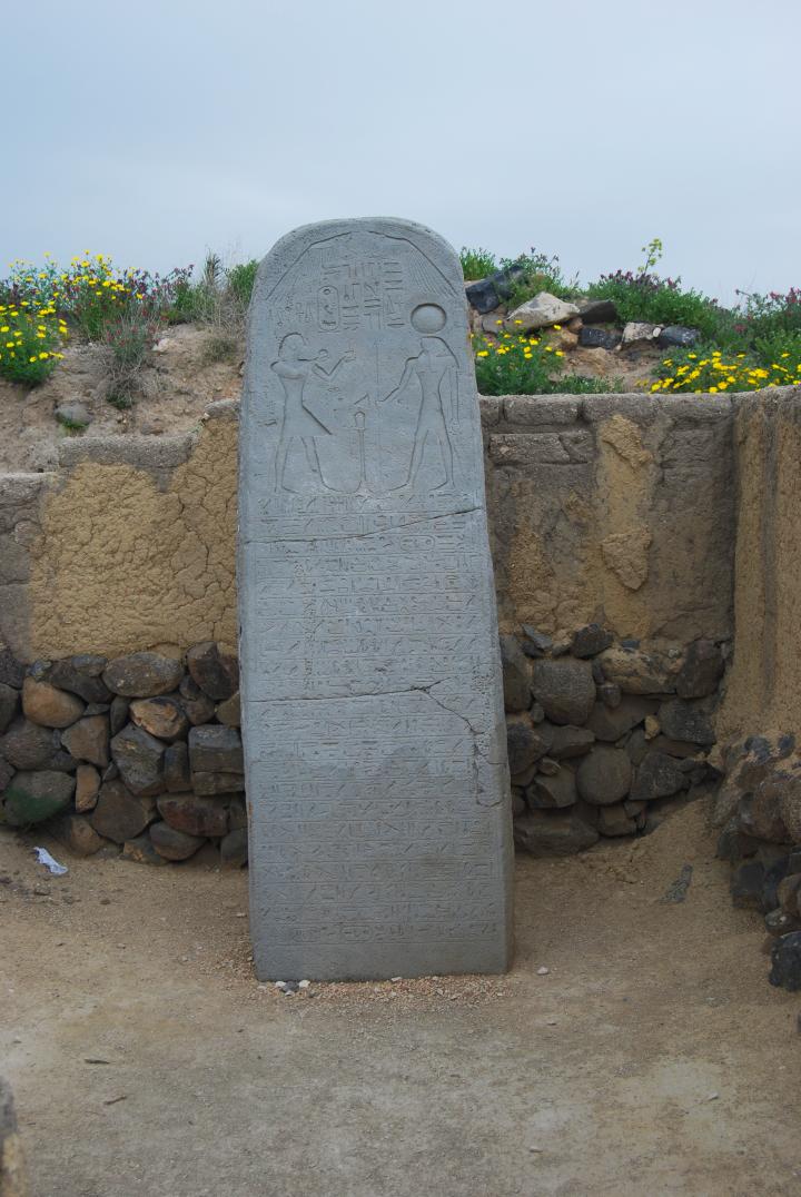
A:
{"type": "Polygon", "coordinates": [[[503,971],[511,812],[450,247],[388,219],[274,247],[250,308],[239,458],[256,973],[503,971]]]}

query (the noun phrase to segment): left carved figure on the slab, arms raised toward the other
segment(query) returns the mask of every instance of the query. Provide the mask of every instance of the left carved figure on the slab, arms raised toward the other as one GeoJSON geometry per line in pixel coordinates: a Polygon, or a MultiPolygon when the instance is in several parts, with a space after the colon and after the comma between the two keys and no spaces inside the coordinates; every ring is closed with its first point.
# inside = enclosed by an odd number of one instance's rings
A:
{"type": "Polygon", "coordinates": [[[314,353],[307,346],[301,333],[289,333],[278,347],[278,359],[271,364],[281,381],[284,390],[284,417],[281,419],[281,431],[275,452],[275,490],[286,490],[284,485],[284,472],[286,458],[293,440],[301,440],[305,450],[309,468],[318,479],[320,485],[326,486],[320,468],[316,438],[330,436],[330,429],[320,420],[303,401],[303,393],[309,377],[314,373],[318,378],[333,378],[344,361],[352,361],[356,357],[353,350],[348,350],[339,361],[330,369],[326,367],[328,358],[327,350],[314,353]]]}

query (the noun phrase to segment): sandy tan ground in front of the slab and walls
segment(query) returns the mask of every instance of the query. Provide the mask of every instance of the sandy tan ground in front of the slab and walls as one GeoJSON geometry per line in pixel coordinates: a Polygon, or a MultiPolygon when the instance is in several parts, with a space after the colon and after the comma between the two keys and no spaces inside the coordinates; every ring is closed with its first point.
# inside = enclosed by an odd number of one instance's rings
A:
{"type": "Polygon", "coordinates": [[[243,874],[50,879],[4,832],[0,1069],[36,1197],[801,1193],[801,1003],[705,820],[518,859],[508,977],[295,997],[250,974],[243,874]]]}

